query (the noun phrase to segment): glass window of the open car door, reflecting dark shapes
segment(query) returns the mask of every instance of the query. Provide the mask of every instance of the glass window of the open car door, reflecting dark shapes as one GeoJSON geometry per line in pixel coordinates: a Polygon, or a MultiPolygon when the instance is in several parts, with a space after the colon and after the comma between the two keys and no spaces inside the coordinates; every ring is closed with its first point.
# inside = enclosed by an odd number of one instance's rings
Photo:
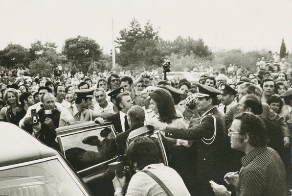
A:
{"type": "Polygon", "coordinates": [[[64,154],[78,172],[117,155],[114,135],[109,127],[61,136],[64,154]]]}

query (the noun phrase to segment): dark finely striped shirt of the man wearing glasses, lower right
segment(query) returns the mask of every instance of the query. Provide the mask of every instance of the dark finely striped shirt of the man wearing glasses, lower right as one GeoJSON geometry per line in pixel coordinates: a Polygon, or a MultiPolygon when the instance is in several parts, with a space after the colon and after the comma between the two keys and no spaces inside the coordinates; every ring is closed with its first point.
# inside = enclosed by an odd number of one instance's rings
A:
{"type": "Polygon", "coordinates": [[[256,147],[242,157],[241,162],[236,196],[287,195],[285,167],[274,149],[256,147]]]}

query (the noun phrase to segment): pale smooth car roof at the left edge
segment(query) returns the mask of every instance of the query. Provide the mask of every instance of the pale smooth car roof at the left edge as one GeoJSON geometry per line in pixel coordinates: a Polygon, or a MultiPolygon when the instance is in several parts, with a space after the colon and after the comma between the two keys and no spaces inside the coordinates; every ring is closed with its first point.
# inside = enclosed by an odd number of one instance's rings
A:
{"type": "Polygon", "coordinates": [[[59,154],[15,124],[0,122],[0,127],[0,167],[59,154]]]}

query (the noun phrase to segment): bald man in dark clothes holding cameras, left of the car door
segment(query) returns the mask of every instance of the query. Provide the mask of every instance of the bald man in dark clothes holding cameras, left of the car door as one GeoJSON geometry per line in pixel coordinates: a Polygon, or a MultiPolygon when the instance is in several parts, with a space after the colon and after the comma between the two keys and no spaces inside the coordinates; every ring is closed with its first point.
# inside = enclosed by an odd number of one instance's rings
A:
{"type": "MultiPolygon", "coordinates": [[[[24,119],[24,129],[38,138],[49,147],[56,147],[55,129],[59,127],[61,112],[55,107],[56,98],[52,93],[45,93],[42,96],[44,107],[37,114],[37,123],[33,123],[32,117],[24,119]]],[[[32,112],[32,116],[34,116],[32,112]]]]}

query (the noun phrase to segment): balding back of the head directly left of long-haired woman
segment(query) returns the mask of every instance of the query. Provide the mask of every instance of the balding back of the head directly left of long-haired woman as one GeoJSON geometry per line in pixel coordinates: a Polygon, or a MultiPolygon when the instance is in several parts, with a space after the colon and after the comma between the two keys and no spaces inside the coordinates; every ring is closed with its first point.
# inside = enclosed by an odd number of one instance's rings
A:
{"type": "Polygon", "coordinates": [[[127,112],[129,125],[143,124],[145,120],[145,112],[141,106],[134,105],[127,112]]]}

